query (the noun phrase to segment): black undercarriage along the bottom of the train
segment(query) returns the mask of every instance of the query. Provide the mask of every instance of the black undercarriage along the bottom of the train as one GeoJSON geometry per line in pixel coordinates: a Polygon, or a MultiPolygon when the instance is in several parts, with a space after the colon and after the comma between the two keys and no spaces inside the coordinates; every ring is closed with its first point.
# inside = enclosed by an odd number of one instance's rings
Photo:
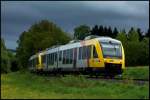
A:
{"type": "Polygon", "coordinates": [[[121,75],[123,70],[121,64],[105,63],[105,67],[86,67],[86,68],[53,68],[53,69],[40,69],[32,70],[31,72],[37,74],[47,75],[66,75],[66,74],[83,74],[89,76],[105,76],[113,78],[116,75],[121,75]]]}

